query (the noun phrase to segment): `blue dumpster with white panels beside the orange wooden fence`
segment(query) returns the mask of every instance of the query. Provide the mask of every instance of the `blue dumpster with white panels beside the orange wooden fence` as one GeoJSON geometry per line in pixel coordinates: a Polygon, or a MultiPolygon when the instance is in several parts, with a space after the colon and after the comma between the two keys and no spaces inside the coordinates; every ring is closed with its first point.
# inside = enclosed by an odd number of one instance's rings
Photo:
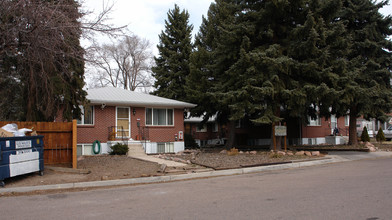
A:
{"type": "Polygon", "coordinates": [[[44,171],[44,136],[0,138],[0,185],[4,179],[44,171]]]}

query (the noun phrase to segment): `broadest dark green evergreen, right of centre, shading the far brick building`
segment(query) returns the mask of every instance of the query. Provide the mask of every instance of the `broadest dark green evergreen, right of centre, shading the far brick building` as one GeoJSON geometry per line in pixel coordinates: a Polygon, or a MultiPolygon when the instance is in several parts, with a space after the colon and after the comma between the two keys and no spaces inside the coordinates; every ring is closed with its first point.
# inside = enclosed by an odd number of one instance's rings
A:
{"type": "MultiPolygon", "coordinates": [[[[336,1],[216,1],[199,33],[204,41],[196,42],[202,49],[197,47],[193,58],[199,59],[192,60],[198,66],[192,77],[203,82],[199,97],[206,97],[207,106],[213,100],[231,125],[243,118],[270,125],[288,116],[307,118],[311,109],[315,112],[316,104],[311,104],[318,94],[333,92],[320,82],[332,71],[327,68],[328,43],[335,29],[328,30],[324,19],[333,17],[329,9],[335,5],[336,1]]],[[[229,148],[234,127],[230,131],[229,148]]]]}

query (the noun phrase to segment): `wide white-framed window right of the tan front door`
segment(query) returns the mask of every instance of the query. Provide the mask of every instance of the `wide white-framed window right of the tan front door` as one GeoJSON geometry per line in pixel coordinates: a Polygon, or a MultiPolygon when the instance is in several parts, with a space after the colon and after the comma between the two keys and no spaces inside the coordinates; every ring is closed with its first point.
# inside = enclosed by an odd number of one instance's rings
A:
{"type": "Polygon", "coordinates": [[[173,109],[146,108],[146,125],[174,125],[173,109]]]}

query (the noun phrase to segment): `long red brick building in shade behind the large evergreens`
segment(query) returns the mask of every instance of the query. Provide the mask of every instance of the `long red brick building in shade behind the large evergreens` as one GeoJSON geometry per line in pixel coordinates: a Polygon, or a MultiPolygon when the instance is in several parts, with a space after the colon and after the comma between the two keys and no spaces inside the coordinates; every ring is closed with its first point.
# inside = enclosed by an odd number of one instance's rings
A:
{"type": "MultiPolygon", "coordinates": [[[[202,118],[185,119],[185,132],[191,134],[199,146],[222,143],[228,134],[227,126],[218,125],[212,118],[200,127],[202,118]]],[[[308,124],[299,120],[287,122],[287,143],[289,145],[316,145],[316,144],[345,144],[349,135],[349,116],[336,118],[332,115],[329,119],[309,118],[308,124]],[[338,129],[339,133],[335,129],[338,129]]],[[[270,145],[271,126],[254,125],[250,121],[241,120],[236,126],[237,145],[270,145]]]]}

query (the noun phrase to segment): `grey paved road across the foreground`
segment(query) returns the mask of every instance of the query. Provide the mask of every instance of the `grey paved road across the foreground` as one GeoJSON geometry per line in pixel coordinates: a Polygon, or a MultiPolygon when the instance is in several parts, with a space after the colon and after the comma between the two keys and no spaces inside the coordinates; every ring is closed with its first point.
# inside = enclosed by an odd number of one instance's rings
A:
{"type": "Polygon", "coordinates": [[[392,219],[392,158],[0,198],[3,219],[392,219]]]}

